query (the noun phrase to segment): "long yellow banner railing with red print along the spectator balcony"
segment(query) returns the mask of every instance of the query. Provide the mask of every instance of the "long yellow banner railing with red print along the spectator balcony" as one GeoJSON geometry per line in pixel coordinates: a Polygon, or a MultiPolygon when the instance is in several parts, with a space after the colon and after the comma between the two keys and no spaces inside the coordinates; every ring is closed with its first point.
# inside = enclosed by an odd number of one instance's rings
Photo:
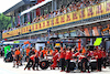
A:
{"type": "Polygon", "coordinates": [[[54,28],[58,25],[64,25],[67,23],[72,23],[73,25],[78,23],[91,22],[100,19],[110,18],[110,1],[106,1],[99,4],[90,6],[77,11],[73,11],[53,19],[44,20],[37,23],[33,23],[31,25],[26,25],[7,33],[2,34],[2,38],[10,38],[19,35],[19,33],[24,34],[30,31],[42,31],[47,28],[54,28]],[[11,33],[13,35],[10,35],[11,33]]]}

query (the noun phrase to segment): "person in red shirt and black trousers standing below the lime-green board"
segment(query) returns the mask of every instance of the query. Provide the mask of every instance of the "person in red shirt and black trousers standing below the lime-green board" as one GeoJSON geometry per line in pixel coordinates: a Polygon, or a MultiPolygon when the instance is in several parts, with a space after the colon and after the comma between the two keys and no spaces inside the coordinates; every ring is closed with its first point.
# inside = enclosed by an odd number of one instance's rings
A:
{"type": "Polygon", "coordinates": [[[101,64],[102,64],[102,52],[101,50],[97,49],[95,52],[95,56],[97,59],[97,70],[101,71],[101,64]]]}

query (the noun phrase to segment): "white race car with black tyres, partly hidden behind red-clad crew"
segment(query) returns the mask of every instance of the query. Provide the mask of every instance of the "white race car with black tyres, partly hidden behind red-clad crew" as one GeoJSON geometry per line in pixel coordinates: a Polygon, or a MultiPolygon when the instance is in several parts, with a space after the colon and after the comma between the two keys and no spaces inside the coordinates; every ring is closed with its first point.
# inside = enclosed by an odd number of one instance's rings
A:
{"type": "MultiPolygon", "coordinates": [[[[48,55],[47,59],[40,60],[40,67],[42,70],[47,70],[53,64],[52,57],[53,56],[48,55]]],[[[78,59],[70,60],[69,64],[70,64],[70,66],[69,66],[70,71],[76,70],[76,67],[78,67],[78,70],[80,70],[80,67],[81,67],[81,64],[80,64],[80,62],[78,62],[78,59]]],[[[57,63],[57,67],[61,67],[61,61],[57,63]]],[[[97,70],[97,60],[89,61],[89,68],[91,68],[91,71],[97,70]]]]}

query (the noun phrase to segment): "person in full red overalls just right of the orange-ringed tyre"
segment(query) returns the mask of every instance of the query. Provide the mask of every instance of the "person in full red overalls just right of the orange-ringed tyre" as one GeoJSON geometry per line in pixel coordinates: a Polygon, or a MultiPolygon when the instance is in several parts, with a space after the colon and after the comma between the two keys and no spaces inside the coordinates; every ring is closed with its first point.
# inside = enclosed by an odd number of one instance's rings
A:
{"type": "Polygon", "coordinates": [[[59,57],[59,53],[55,51],[53,52],[53,64],[51,65],[51,70],[55,70],[55,67],[57,66],[57,60],[59,57]]]}

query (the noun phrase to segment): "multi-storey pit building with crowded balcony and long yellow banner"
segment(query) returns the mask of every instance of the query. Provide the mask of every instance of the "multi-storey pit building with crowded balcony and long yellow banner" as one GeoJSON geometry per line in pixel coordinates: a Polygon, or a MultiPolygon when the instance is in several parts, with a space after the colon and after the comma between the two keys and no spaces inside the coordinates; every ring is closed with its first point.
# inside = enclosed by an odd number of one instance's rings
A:
{"type": "Polygon", "coordinates": [[[109,0],[22,0],[3,14],[15,20],[2,31],[8,40],[110,34],[109,0]]]}

